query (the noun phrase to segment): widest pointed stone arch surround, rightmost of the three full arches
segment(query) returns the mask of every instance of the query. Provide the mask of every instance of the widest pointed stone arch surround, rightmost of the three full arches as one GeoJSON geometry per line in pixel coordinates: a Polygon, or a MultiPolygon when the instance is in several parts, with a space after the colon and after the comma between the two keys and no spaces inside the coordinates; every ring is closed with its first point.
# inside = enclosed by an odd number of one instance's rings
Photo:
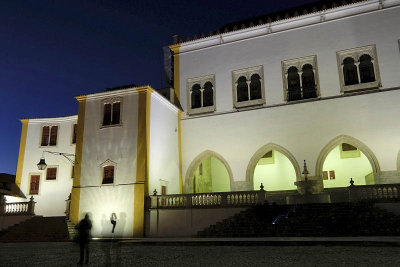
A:
{"type": "Polygon", "coordinates": [[[339,135],[332,139],[319,153],[317,163],[315,165],[315,175],[317,177],[322,177],[322,167],[324,166],[324,162],[326,157],[328,156],[329,152],[332,151],[336,146],[342,144],[342,143],[347,143],[352,146],[357,147],[364,155],[368,158],[369,163],[371,164],[372,171],[374,173],[380,172],[381,168],[379,166],[378,159],[376,158],[375,154],[372,152],[372,150],[366,146],[363,142],[360,140],[348,136],[348,135],[339,135]]]}

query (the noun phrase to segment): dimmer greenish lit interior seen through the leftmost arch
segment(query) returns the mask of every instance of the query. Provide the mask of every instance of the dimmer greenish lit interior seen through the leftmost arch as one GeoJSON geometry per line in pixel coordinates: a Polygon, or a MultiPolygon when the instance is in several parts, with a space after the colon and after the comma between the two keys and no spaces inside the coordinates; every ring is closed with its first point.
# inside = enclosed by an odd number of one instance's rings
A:
{"type": "Polygon", "coordinates": [[[196,193],[230,191],[230,178],[225,165],[215,157],[207,157],[194,172],[196,193]]]}

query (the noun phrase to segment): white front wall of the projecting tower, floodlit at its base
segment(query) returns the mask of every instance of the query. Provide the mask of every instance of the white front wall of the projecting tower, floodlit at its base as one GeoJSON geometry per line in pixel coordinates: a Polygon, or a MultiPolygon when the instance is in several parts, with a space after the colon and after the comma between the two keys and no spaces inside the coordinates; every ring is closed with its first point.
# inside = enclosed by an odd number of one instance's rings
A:
{"type": "Polygon", "coordinates": [[[133,234],[138,99],[135,91],[124,94],[123,90],[87,96],[79,218],[91,215],[94,237],[111,235],[112,213],[118,218],[115,236],[133,234]],[[113,97],[121,100],[121,125],[103,127],[103,101],[113,97]],[[102,185],[107,160],[115,164],[114,184],[102,185]]]}

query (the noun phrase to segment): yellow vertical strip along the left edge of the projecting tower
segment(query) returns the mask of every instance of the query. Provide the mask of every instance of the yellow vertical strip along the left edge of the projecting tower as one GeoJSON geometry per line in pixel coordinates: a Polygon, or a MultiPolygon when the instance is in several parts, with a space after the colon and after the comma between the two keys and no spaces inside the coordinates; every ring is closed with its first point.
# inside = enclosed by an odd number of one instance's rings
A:
{"type": "Polygon", "coordinates": [[[75,175],[71,191],[70,220],[77,224],[79,220],[79,201],[81,197],[81,172],[82,172],[82,151],[83,134],[85,128],[86,96],[76,97],[78,106],[78,124],[75,146],[75,175]]]}

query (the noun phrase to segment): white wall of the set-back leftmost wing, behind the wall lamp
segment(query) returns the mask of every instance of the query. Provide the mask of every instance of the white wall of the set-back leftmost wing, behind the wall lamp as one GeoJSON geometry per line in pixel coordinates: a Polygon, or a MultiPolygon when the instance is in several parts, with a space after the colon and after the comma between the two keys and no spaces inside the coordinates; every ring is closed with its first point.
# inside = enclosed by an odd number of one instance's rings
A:
{"type": "Polygon", "coordinates": [[[30,175],[40,175],[39,194],[33,195],[36,202],[35,214],[37,215],[65,215],[65,200],[71,193],[72,188],[71,162],[60,155],[45,153],[44,157],[47,165],[58,167],[57,179],[49,181],[46,181],[46,171],[39,171],[36,164],[42,157],[44,150],[75,154],[75,144],[72,144],[72,134],[73,125],[76,121],[77,116],[29,120],[20,189],[26,195],[26,201],[28,201],[31,196],[29,195],[30,175]],[[42,127],[46,125],[58,125],[56,146],[40,146],[42,127]]]}

